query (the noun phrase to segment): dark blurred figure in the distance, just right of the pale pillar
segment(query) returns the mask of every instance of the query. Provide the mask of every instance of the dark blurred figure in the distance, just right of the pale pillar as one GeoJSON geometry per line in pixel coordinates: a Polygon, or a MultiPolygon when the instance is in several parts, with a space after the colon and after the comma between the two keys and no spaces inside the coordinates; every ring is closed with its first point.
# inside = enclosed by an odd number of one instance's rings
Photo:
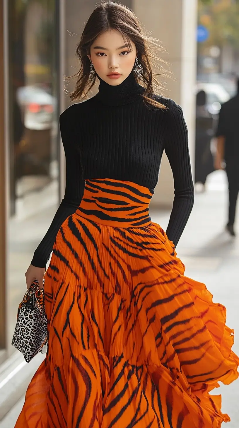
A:
{"type": "Polygon", "coordinates": [[[195,184],[205,190],[207,175],[214,171],[210,142],[213,137],[213,116],[206,107],[206,92],[199,91],[196,98],[195,184]]]}

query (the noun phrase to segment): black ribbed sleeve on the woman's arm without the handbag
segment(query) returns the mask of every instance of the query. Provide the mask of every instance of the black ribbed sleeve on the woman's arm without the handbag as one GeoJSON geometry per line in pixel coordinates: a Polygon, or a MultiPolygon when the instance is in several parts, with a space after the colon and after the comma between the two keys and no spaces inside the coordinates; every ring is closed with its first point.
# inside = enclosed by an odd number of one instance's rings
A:
{"type": "Polygon", "coordinates": [[[173,103],[166,128],[165,152],[174,178],[175,197],[166,234],[176,247],[194,202],[188,132],[181,107],[173,103]]]}

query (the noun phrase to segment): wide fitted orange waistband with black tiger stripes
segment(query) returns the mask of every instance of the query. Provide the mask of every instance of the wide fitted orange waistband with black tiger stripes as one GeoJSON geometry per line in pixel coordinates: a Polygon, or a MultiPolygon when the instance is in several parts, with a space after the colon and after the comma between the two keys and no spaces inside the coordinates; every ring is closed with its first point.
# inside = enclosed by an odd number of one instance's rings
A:
{"type": "Polygon", "coordinates": [[[149,202],[154,191],[131,181],[110,178],[85,180],[76,214],[94,223],[128,228],[151,223],[149,202]]]}

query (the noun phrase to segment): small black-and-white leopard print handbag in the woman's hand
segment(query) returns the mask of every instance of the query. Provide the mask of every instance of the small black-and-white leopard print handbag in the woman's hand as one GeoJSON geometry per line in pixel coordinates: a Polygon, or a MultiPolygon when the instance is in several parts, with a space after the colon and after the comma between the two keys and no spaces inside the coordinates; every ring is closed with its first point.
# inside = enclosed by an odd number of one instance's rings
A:
{"type": "Polygon", "coordinates": [[[46,351],[47,316],[45,313],[44,288],[38,287],[37,280],[26,291],[18,307],[17,324],[12,345],[22,352],[27,363],[38,352],[45,353],[46,351]]]}

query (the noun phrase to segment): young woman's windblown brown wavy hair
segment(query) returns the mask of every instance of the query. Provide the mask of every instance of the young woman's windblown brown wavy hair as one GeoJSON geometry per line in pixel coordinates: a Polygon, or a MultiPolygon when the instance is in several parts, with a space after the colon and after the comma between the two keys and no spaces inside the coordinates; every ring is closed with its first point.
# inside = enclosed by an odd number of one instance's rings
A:
{"type": "Polygon", "coordinates": [[[140,21],[131,9],[113,1],[99,3],[85,24],[82,37],[76,48],[76,55],[80,63],[79,71],[74,76],[67,77],[67,79],[73,77],[77,79],[74,91],[69,94],[71,100],[81,101],[86,98],[95,84],[96,77],[93,82],[90,82],[90,60],[87,54],[90,54],[90,46],[97,37],[108,30],[119,31],[127,45],[130,45],[131,41],[134,42],[138,59],[143,65],[143,75],[140,78],[135,75],[135,80],[143,84],[146,89],[142,95],[143,99],[146,104],[165,109],[163,104],[153,98],[154,90],[160,95],[163,89],[162,84],[157,80],[157,76],[165,74],[163,65],[166,62],[160,59],[159,55],[164,49],[157,39],[149,36],[143,30],[140,21]]]}

